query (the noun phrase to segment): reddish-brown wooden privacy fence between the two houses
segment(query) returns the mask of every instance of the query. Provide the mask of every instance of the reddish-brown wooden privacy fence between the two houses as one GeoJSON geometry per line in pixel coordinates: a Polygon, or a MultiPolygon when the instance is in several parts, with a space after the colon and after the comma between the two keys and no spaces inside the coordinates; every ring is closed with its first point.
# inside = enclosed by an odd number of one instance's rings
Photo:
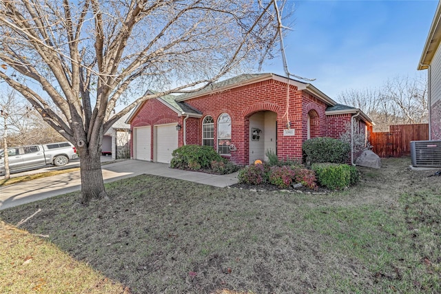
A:
{"type": "Polygon", "coordinates": [[[369,142],[380,157],[400,157],[411,154],[411,141],[429,140],[429,125],[391,125],[389,132],[372,132],[369,142]]]}

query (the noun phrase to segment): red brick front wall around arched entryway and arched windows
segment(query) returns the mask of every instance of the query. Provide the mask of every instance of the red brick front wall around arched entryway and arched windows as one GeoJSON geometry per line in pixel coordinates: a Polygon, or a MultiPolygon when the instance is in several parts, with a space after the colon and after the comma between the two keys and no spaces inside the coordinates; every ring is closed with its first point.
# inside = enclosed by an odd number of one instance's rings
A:
{"type": "MultiPolygon", "coordinates": [[[[285,83],[269,80],[236,87],[231,90],[207,94],[198,98],[185,101],[189,105],[203,112],[204,116],[214,118],[214,138],[217,138],[217,120],[224,112],[232,118],[232,143],[237,150],[228,156],[232,161],[240,165],[247,165],[249,158],[249,116],[269,110],[276,112],[277,128],[277,153],[279,158],[301,158],[302,142],[306,140],[307,125],[306,114],[310,109],[318,113],[318,134],[326,134],[325,103],[314,96],[298,91],[291,85],[289,89],[289,107],[287,107],[287,86],[285,83]],[[309,110],[308,110],[309,109],[309,110]],[[285,115],[286,114],[286,115],[285,115]],[[283,129],[287,121],[291,121],[291,129],[295,129],[295,136],[283,136],[283,129]]],[[[199,138],[188,140],[187,143],[201,144],[202,120],[199,120],[199,138]]],[[[217,148],[217,142],[214,142],[217,148]]]]}

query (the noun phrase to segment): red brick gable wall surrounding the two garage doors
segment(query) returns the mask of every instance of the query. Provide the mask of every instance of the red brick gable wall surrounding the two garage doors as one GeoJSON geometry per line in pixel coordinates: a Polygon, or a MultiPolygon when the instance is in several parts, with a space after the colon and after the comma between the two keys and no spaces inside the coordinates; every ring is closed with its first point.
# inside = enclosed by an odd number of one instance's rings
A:
{"type": "MultiPolygon", "coordinates": [[[[164,125],[167,123],[180,123],[183,125],[183,118],[178,117],[178,114],[174,112],[169,107],[165,106],[161,101],[157,99],[151,99],[145,101],[144,105],[140,107],[138,112],[132,118],[130,123],[130,130],[132,131],[130,135],[130,156],[133,157],[133,128],[134,127],[146,127],[147,125],[152,126],[152,136],[150,138],[150,142],[152,143],[151,150],[152,154],[150,154],[151,158],[153,158],[154,154],[154,125],[164,125]]],[[[178,145],[183,145],[183,130],[179,131],[178,134],[178,145]]]]}

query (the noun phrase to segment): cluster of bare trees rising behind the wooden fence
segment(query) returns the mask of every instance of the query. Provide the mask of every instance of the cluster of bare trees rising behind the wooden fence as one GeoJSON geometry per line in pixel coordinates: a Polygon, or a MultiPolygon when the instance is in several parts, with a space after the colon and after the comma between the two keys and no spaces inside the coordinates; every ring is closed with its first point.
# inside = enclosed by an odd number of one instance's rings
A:
{"type": "Polygon", "coordinates": [[[389,125],[427,123],[427,78],[396,76],[380,88],[345,90],[337,100],[357,107],[374,123],[376,132],[389,131],[389,125]]]}

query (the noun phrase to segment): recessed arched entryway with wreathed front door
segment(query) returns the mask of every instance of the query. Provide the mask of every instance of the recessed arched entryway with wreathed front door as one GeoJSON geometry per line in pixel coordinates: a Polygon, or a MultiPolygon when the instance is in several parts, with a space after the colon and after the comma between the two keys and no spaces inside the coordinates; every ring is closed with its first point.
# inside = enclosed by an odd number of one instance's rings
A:
{"type": "Polygon", "coordinates": [[[277,153],[277,114],[255,112],[249,116],[249,163],[257,159],[268,160],[267,150],[277,153]]]}

